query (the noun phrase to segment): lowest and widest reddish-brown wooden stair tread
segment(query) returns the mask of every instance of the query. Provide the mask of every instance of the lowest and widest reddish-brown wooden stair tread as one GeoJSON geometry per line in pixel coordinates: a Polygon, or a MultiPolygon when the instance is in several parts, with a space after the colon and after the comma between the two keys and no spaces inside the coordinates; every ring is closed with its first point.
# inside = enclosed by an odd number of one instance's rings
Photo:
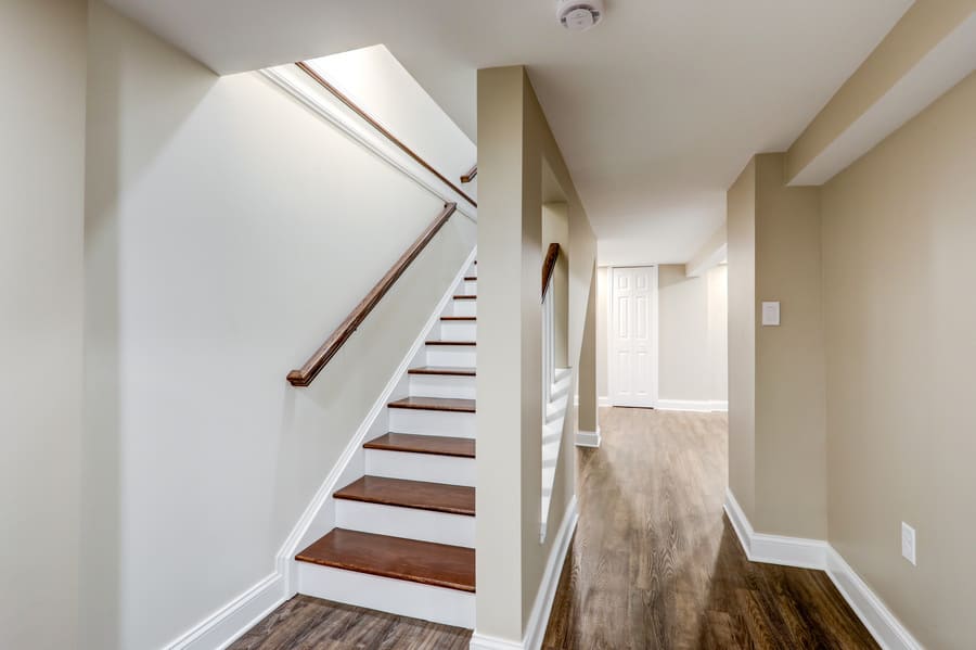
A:
{"type": "Polygon", "coordinates": [[[335,528],[295,559],[472,594],[475,590],[473,548],[335,528]]]}

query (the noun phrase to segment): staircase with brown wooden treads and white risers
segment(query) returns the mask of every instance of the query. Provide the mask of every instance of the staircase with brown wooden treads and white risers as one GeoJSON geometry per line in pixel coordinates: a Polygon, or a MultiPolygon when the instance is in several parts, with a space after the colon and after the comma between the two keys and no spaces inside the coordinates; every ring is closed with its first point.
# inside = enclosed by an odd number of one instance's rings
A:
{"type": "Polygon", "coordinates": [[[299,592],[474,627],[476,265],[363,445],[365,475],[332,495],[335,528],[295,557],[299,592]]]}

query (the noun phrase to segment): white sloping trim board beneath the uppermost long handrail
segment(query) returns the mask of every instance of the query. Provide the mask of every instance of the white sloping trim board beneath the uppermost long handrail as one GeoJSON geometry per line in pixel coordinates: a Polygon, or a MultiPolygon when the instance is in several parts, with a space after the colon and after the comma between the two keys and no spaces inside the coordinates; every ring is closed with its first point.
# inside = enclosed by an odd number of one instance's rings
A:
{"type": "Polygon", "coordinates": [[[259,73],[440,201],[457,203],[459,213],[477,222],[477,209],[464,196],[393,144],[300,68],[288,64],[264,68],[259,73]]]}

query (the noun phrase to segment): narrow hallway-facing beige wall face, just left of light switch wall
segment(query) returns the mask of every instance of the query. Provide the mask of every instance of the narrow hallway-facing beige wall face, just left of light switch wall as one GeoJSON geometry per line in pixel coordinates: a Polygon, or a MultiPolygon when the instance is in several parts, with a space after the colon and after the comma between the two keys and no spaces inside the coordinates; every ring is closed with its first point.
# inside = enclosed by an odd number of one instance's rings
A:
{"type": "Polygon", "coordinates": [[[748,518],[756,485],[756,160],[729,188],[729,488],[748,518]]]}

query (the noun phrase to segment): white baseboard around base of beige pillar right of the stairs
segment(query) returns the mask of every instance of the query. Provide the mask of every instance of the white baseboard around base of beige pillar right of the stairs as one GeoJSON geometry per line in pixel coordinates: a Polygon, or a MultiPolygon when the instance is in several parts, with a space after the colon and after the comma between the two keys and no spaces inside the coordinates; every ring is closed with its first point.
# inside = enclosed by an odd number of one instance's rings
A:
{"type": "Polygon", "coordinates": [[[536,594],[536,601],[532,603],[532,611],[529,614],[523,639],[512,641],[475,630],[471,637],[471,650],[539,650],[542,647],[545,627],[549,625],[549,615],[552,613],[552,603],[555,600],[556,587],[560,585],[560,576],[566,561],[566,552],[569,550],[569,543],[573,540],[573,533],[576,532],[578,522],[579,509],[574,495],[566,506],[558,535],[553,540],[552,550],[545,561],[545,571],[542,573],[542,582],[539,584],[539,591],[536,594]]]}

